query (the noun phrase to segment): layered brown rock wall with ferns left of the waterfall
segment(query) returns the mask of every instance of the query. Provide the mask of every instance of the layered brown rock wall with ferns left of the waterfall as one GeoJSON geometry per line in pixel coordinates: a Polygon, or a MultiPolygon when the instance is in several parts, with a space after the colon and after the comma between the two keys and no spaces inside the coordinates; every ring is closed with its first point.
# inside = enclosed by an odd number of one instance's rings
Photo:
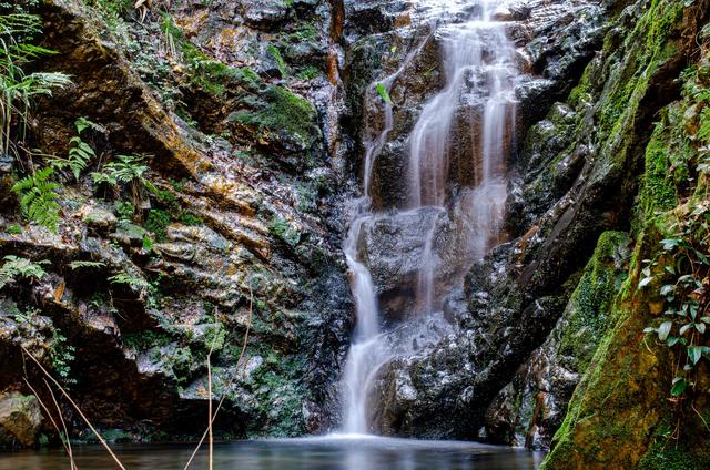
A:
{"type": "Polygon", "coordinates": [[[328,429],[353,307],[337,3],[18,8],[57,51],[42,70],[72,78],[38,103],[33,147],[64,155],[85,116],[97,159],[55,172],[58,233],[28,224],[6,184],[29,155],[2,166],[0,255],[40,273],[0,290],[0,389],[27,388],[24,347],[95,426],[131,439],[201,435],[222,396],[225,437],[328,429]],[[138,155],[142,178],[93,183],[118,155],[138,155]]]}

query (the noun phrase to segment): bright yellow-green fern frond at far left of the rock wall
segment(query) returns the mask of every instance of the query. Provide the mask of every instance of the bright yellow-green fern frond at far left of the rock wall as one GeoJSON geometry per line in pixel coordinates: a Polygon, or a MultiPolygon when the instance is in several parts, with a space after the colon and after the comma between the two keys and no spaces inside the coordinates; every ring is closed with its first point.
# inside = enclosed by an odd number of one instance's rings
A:
{"type": "Polygon", "coordinates": [[[20,197],[20,208],[27,218],[57,233],[61,208],[57,190],[61,186],[50,180],[53,173],[51,167],[43,168],[17,182],[12,192],[20,197]]]}

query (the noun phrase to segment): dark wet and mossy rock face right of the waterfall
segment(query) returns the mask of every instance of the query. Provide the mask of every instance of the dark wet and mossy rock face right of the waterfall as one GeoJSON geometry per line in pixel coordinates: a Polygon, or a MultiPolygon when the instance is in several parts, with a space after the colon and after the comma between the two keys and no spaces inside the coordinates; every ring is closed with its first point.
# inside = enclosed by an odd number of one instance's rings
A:
{"type": "MultiPolygon", "coordinates": [[[[707,39],[689,38],[707,38],[701,32],[709,20],[706,3],[609,3],[606,25],[595,17],[598,6],[581,3],[532,4],[530,10],[501,13],[520,19],[511,34],[519,38],[520,60],[535,78],[518,90],[523,132],[510,162],[509,241],[474,266],[464,289],[446,300],[454,331],[420,354],[397,357],[382,368],[374,415],[384,432],[551,446],[547,466],[555,469],[636,468],[671,459],[663,452],[659,457],[662,446],[655,435],[672,413],[660,406],[672,378],[672,368],[666,367],[669,354],[637,352],[651,321],[646,309],[638,309],[638,302],[648,302],[637,293],[643,259],[638,256],[657,252],[648,237],[659,237],[652,228],[656,219],[642,215],[653,210],[639,197],[650,172],[662,178],[678,164],[678,157],[670,156],[662,164],[649,162],[649,141],[659,112],[680,96],[684,67],[697,61],[699,70],[704,67],[698,58],[707,39]],[[580,37],[588,41],[568,40],[580,37]],[[637,254],[627,262],[632,251],[637,254]],[[641,398],[642,390],[649,396],[641,398]],[[598,416],[607,417],[606,422],[598,416]],[[613,429],[611,417],[619,423],[613,429]],[[630,429],[637,421],[642,425],[630,429]]],[[[353,51],[365,53],[368,39],[357,33],[352,37],[361,45],[353,51]]],[[[412,100],[407,75],[395,82],[396,104],[397,96],[412,100]],[[407,92],[397,92],[398,86],[407,92]]],[[[417,101],[426,96],[419,94],[417,101]]],[[[402,108],[409,109],[404,103],[402,108]]],[[[681,108],[672,115],[690,119],[702,106],[684,105],[694,111],[681,108]]],[[[385,162],[379,165],[392,172],[383,173],[383,181],[400,171],[402,164],[392,159],[402,155],[403,144],[396,141],[406,137],[413,119],[397,112],[395,108],[392,143],[381,155],[385,162]]],[[[669,125],[694,132],[692,119],[669,125]]],[[[683,145],[692,141],[688,134],[674,139],[684,140],[683,145]]],[[[648,191],[662,197],[688,194],[681,186],[648,191]]],[[[400,203],[385,195],[378,204],[400,203]]],[[[381,265],[387,266],[386,273],[397,273],[386,258],[374,262],[375,272],[381,265]]],[[[662,311],[657,304],[651,308],[662,311]]],[[[691,449],[687,460],[699,462],[703,449],[691,449]]]]}

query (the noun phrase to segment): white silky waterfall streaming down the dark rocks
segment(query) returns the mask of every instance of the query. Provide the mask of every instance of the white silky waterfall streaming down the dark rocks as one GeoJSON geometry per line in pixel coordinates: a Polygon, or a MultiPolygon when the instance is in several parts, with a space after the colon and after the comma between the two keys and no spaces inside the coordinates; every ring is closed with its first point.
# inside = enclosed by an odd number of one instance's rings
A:
{"type": "MultiPolygon", "coordinates": [[[[426,3],[429,0],[422,1],[426,3]]],[[[450,3],[452,10],[462,11],[473,2],[449,0],[437,3],[440,12],[446,12],[444,3],[450,3]]],[[[438,31],[432,28],[442,44],[445,85],[425,105],[408,139],[409,194],[405,210],[394,214],[371,213],[373,166],[394,126],[392,105],[381,102],[384,126],[372,131],[369,141],[365,143],[364,196],[353,203],[344,244],[357,315],[342,381],[343,430],[347,433],[366,433],[371,429],[367,422],[371,385],[382,365],[396,356],[387,344],[387,335],[382,331],[377,286],[368,266],[358,258],[362,232],[383,217],[396,218],[418,211],[436,215],[429,218],[430,225],[422,244],[417,298],[414,302],[419,316],[440,309],[447,288],[460,283],[459,276],[448,279],[447,286],[437,285],[439,219],[456,221],[462,232],[458,239],[463,245],[458,253],[467,257],[468,266],[490,248],[499,232],[506,200],[505,162],[510,151],[515,121],[514,88],[518,73],[515,48],[506,35],[506,24],[493,21],[493,7],[484,2],[468,21],[444,22],[438,31]],[[456,191],[452,191],[452,133],[462,109],[470,109],[473,116],[467,121],[467,132],[473,142],[469,157],[474,160],[474,172],[470,181],[458,182],[456,191]]],[[[407,55],[397,72],[378,83],[389,91],[422,48],[423,43],[407,55]]],[[[378,100],[375,84],[366,99],[378,100]]]]}

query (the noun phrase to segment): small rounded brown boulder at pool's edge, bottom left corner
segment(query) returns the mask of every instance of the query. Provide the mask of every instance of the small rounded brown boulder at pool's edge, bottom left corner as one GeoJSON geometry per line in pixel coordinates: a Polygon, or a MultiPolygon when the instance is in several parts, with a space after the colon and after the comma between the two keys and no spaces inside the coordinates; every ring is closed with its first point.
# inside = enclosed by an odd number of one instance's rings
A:
{"type": "Polygon", "coordinates": [[[41,426],[42,412],[36,396],[0,396],[0,448],[34,446],[41,426]]]}

